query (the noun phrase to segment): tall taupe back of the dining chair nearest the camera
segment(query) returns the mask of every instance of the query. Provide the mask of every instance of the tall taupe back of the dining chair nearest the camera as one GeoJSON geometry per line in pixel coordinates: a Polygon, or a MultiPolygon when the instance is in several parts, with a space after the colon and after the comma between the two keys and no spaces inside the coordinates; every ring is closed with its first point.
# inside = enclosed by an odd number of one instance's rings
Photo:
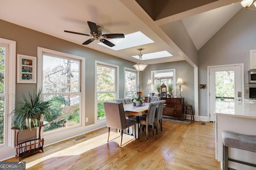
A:
{"type": "Polygon", "coordinates": [[[126,128],[126,118],[122,102],[104,102],[104,110],[106,114],[107,127],[115,129],[126,128]]]}

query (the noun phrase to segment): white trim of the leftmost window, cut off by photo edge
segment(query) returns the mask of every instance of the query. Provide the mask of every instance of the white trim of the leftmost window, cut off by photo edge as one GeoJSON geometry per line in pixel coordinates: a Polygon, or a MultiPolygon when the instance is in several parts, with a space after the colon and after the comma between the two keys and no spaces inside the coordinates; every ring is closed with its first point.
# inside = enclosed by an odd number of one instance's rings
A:
{"type": "Polygon", "coordinates": [[[8,64],[8,70],[9,70],[9,82],[6,82],[6,86],[8,86],[8,125],[7,130],[5,129],[5,133],[8,134],[8,142],[4,147],[0,148],[1,154],[0,155],[0,161],[6,160],[8,158],[11,158],[15,156],[16,150],[14,148],[15,144],[15,133],[11,130],[12,127],[12,116],[9,116],[12,111],[15,108],[15,94],[16,94],[16,41],[11,41],[8,39],[0,38],[0,42],[6,44],[6,53],[9,56],[9,64],[8,64]]]}

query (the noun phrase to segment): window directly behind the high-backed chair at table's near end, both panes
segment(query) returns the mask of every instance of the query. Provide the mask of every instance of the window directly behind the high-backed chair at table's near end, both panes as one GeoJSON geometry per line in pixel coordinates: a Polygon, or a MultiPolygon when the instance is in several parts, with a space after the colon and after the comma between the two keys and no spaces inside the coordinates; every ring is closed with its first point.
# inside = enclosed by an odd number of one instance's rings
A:
{"type": "Polygon", "coordinates": [[[105,118],[103,103],[112,102],[117,96],[117,68],[106,63],[96,63],[97,119],[105,118]]]}

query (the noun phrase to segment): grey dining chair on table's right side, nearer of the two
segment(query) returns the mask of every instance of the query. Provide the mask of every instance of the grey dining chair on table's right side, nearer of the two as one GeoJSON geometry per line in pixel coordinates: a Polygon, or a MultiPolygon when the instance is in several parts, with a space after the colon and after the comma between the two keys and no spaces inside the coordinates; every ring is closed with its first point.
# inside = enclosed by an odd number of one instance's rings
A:
{"type": "Polygon", "coordinates": [[[158,102],[151,102],[148,105],[148,112],[146,116],[140,116],[139,117],[139,123],[140,125],[146,125],[146,135],[147,135],[147,141],[148,141],[148,125],[152,125],[152,131],[153,136],[155,136],[154,132],[154,121],[155,121],[155,114],[156,114],[156,106],[158,105],[158,102]]]}

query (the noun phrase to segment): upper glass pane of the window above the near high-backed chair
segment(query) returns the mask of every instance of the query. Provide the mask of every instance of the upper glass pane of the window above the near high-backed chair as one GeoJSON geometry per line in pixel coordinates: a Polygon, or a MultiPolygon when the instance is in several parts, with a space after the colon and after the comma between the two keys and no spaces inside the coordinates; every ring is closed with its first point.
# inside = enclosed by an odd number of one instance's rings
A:
{"type": "Polygon", "coordinates": [[[116,68],[97,65],[97,92],[115,91],[116,68]]]}

